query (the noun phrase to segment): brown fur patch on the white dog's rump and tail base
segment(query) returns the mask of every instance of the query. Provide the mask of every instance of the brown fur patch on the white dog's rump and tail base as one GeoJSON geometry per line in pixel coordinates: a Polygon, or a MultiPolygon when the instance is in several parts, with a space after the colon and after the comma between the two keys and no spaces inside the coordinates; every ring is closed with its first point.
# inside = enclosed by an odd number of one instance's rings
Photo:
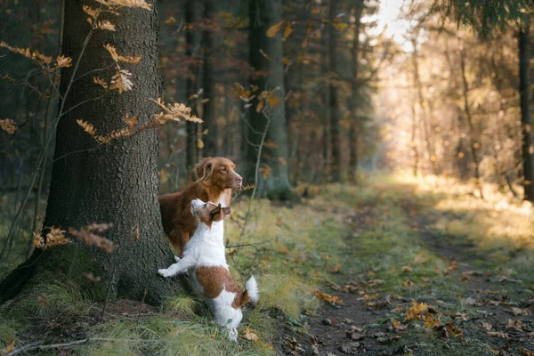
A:
{"type": "Polygon", "coordinates": [[[230,271],[224,267],[198,267],[195,270],[198,284],[203,288],[203,294],[210,299],[214,299],[221,294],[223,289],[228,292],[236,293],[236,296],[231,303],[232,308],[238,309],[241,305],[250,300],[247,291],[242,292],[231,279],[230,271]]]}

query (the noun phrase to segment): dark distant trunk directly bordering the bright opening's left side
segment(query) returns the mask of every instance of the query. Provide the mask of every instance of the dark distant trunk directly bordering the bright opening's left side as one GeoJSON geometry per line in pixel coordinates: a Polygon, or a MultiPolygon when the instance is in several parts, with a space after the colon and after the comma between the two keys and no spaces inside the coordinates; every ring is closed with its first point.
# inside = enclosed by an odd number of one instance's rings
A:
{"type": "Polygon", "coordinates": [[[363,1],[357,1],[354,5],[354,38],[352,38],[352,98],[349,101],[350,112],[352,116],[351,127],[349,131],[349,177],[352,182],[356,182],[357,170],[358,170],[358,138],[360,136],[360,120],[358,119],[358,100],[359,100],[359,87],[358,87],[358,71],[359,61],[358,56],[360,53],[360,20],[361,13],[363,12],[363,1]]]}

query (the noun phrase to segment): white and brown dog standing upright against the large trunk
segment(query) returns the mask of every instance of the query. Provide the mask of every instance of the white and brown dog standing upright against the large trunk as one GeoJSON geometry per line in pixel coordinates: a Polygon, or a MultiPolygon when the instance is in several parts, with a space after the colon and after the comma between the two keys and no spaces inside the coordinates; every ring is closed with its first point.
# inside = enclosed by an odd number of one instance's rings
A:
{"type": "Polygon", "coordinates": [[[200,295],[206,299],[217,324],[228,328],[228,338],[238,339],[239,322],[243,319],[241,306],[257,302],[258,287],[254,276],[245,284],[245,291],[231,279],[224,255],[223,220],[230,214],[230,206],[191,201],[191,214],[199,220],[198,228],[183,251],[182,258],[166,269],[158,270],[163,277],[172,277],[194,268],[193,279],[200,295]]]}

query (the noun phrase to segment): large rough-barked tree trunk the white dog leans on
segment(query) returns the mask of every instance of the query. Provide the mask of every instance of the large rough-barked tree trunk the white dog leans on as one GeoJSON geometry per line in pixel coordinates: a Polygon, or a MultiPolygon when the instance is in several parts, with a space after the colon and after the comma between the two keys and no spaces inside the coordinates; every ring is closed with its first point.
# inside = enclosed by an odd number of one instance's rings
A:
{"type": "MultiPolygon", "coordinates": [[[[65,2],[65,30],[62,53],[80,57],[89,33],[82,4],[65,2]]],[[[98,8],[98,4],[89,2],[98,8]]],[[[104,233],[117,249],[107,254],[96,247],[78,243],[69,246],[36,249],[0,284],[0,301],[30,290],[39,283],[70,279],[83,283],[83,274],[101,276],[97,290],[110,291],[118,297],[161,303],[173,295],[178,285],[158,277],[157,270],[173,262],[160,224],[158,206],[158,131],[150,129],[111,141],[95,142],[77,125],[81,118],[94,125],[99,134],[125,126],[125,114],[135,116],[140,125],[149,123],[157,108],[149,98],[161,94],[158,73],[158,14],[126,9],[112,17],[117,32],[96,30],[81,56],[79,67],[63,69],[61,94],[66,98],[64,116],[56,131],[53,174],[45,227],[78,229],[90,223],[112,223],[104,233]],[[96,69],[109,66],[111,59],[104,44],[112,44],[119,54],[139,55],[139,64],[123,63],[133,73],[134,89],[122,94],[109,92],[93,84],[96,69]],[[76,80],[73,80],[76,79],[76,80]],[[70,87],[69,87],[70,86],[70,87]],[[95,99],[100,97],[100,99],[95,99]]],[[[114,69],[101,71],[111,77],[114,69]]]]}

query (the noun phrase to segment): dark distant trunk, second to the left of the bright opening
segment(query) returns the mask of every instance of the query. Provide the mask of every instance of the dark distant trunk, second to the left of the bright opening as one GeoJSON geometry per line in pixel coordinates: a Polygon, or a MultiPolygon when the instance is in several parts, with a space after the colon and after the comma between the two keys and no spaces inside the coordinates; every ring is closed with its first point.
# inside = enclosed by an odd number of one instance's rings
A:
{"type": "MultiPolygon", "coordinates": [[[[331,21],[336,18],[336,0],[330,0],[328,3],[329,19],[331,21]]],[[[328,26],[328,71],[330,74],[337,73],[337,61],[336,57],[339,53],[337,50],[337,30],[334,26],[328,26]]],[[[341,181],[341,136],[340,125],[341,110],[339,108],[339,100],[337,98],[337,88],[332,83],[330,78],[329,94],[328,94],[328,106],[330,107],[330,144],[332,146],[332,159],[330,159],[330,181],[341,181]]]]}

